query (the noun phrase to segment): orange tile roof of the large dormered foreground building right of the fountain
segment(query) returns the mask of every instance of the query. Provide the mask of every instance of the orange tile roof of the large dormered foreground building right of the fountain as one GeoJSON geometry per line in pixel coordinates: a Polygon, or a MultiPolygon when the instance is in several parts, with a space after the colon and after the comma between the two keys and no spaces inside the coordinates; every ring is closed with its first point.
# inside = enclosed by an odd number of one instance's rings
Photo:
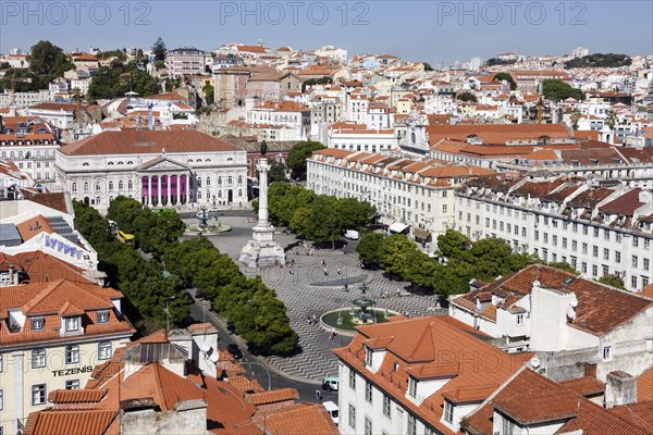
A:
{"type": "MultiPolygon", "coordinates": [[[[497,370],[483,372],[482,378],[485,385],[504,383],[532,356],[531,353],[504,353],[480,339],[484,334],[453,318],[396,316],[387,323],[358,326],[357,331],[358,334],[349,346],[334,349],[340,360],[387,391],[394,400],[399,401],[410,412],[445,434],[452,432],[440,422],[443,412],[443,391],[480,384],[478,370],[470,370],[468,363],[473,360],[472,355],[492,352],[493,357],[502,361],[496,364],[497,370]],[[380,369],[377,373],[371,373],[365,366],[362,343],[373,337],[390,336],[394,336],[395,339],[386,347],[387,353],[380,369]],[[406,399],[408,373],[418,370],[419,365],[431,363],[459,363],[460,368],[441,390],[427,397],[420,406],[416,406],[406,399]]],[[[429,369],[426,371],[428,372],[429,369]]]]}

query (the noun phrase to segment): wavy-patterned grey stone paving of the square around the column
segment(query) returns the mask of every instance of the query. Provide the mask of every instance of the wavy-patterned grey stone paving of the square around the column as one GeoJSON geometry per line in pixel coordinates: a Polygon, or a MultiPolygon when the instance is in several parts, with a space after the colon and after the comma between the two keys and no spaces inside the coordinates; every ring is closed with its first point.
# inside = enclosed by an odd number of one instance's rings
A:
{"type": "MultiPolygon", "coordinates": [[[[254,225],[246,224],[243,217],[224,216],[221,220],[233,227],[254,225]]],[[[218,249],[237,261],[248,237],[249,235],[209,238],[218,249]]],[[[266,358],[267,363],[278,371],[310,382],[319,382],[325,374],[336,372],[337,359],[330,349],[345,346],[352,338],[337,335],[329,340],[328,331],[319,323],[309,324],[307,318],[316,314],[319,319],[325,311],[348,308],[349,301],[359,295],[359,283],[364,279],[370,289],[369,296],[377,300],[379,308],[410,316],[434,313],[434,296],[399,296],[398,290],[406,295],[407,283],[389,281],[381,271],[361,269],[356,253],[345,254],[342,249],[315,249],[309,256],[309,249],[295,235],[281,233],[275,238],[286,249],[286,260],[294,260],[294,265],[263,269],[242,266],[241,271],[247,276],[260,274],[263,282],[276,290],[279,298],[286,303],[291,325],[299,336],[301,352],[286,358],[266,358]],[[328,275],[324,274],[324,269],[328,275]],[[348,283],[348,290],[344,288],[345,283],[348,283]]]]}

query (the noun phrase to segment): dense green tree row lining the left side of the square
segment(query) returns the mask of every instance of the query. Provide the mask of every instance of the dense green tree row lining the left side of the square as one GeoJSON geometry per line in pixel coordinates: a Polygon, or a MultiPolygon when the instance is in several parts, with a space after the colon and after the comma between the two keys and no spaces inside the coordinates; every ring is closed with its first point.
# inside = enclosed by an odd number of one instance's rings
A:
{"type": "Polygon", "coordinates": [[[185,225],[174,210],[155,212],[134,199],[118,197],[107,219],[81,202],[75,202],[75,225],[98,251],[100,269],[143,318],[144,332],[161,327],[165,299],[172,297],[170,322],[183,325],[188,316],[184,291],[195,287],[255,350],[285,353],[295,348],[297,335],[274,290],[259,277],[245,277],[229,256],[205,237],[178,241],[185,225]],[[134,234],[135,244],[114,239],[109,220],[134,234]],[[138,249],[152,259],[144,260],[138,249]]]}

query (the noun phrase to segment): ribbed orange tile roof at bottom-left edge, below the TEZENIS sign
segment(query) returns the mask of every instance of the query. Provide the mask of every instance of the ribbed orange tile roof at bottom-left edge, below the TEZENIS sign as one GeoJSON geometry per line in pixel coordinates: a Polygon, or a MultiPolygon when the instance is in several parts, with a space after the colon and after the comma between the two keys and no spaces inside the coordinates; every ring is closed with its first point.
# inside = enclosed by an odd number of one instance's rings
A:
{"type": "Polygon", "coordinates": [[[115,411],[40,411],[30,414],[24,435],[100,435],[116,419],[115,411]]]}

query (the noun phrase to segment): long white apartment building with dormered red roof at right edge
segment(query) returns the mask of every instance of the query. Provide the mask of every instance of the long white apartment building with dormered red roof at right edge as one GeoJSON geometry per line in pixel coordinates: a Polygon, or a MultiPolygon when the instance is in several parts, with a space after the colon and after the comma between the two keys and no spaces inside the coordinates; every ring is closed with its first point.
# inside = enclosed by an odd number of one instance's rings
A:
{"type": "Polygon", "coordinates": [[[501,175],[471,181],[455,196],[455,228],[471,240],[501,237],[517,252],[569,263],[591,278],[617,275],[630,290],[651,283],[650,190],[501,175]]]}

